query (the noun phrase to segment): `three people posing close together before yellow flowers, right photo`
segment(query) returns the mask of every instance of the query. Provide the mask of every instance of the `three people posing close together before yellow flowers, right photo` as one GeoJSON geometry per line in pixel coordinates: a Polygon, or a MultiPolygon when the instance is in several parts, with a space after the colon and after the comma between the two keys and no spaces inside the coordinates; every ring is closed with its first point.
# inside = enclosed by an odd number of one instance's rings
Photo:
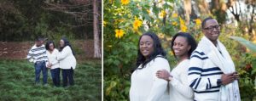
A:
{"type": "Polygon", "coordinates": [[[137,69],[131,74],[131,101],[240,101],[238,74],[230,54],[218,41],[220,25],[202,21],[198,43],[189,33],[172,37],[177,65],[170,71],[160,39],[144,33],[138,43],[137,69]]]}

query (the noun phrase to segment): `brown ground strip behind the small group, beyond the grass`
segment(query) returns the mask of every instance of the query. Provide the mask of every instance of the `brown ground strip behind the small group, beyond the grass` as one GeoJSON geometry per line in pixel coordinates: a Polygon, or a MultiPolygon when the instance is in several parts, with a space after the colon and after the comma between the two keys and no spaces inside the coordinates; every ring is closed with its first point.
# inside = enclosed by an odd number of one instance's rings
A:
{"type": "MultiPolygon", "coordinates": [[[[93,40],[78,40],[73,43],[78,59],[93,58],[93,40]]],[[[34,42],[0,42],[0,59],[26,59],[33,44],[34,42]]]]}

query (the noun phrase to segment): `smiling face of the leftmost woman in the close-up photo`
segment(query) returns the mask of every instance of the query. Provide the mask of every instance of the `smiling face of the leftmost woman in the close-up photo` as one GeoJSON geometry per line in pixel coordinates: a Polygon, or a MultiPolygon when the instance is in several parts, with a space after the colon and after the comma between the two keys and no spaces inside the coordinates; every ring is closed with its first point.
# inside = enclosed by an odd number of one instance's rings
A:
{"type": "Polygon", "coordinates": [[[149,55],[154,52],[154,41],[150,36],[142,36],[139,43],[140,52],[148,59],[149,55]]]}

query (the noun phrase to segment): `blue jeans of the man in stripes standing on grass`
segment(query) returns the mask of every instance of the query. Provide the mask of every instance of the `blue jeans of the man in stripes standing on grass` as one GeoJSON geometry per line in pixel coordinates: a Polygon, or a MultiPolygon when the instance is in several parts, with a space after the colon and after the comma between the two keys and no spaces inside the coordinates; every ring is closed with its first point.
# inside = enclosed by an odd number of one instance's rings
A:
{"type": "Polygon", "coordinates": [[[48,76],[48,70],[45,66],[44,61],[36,62],[35,63],[35,74],[36,74],[36,83],[40,82],[40,73],[41,70],[43,71],[43,84],[47,83],[47,76],[48,76]]]}

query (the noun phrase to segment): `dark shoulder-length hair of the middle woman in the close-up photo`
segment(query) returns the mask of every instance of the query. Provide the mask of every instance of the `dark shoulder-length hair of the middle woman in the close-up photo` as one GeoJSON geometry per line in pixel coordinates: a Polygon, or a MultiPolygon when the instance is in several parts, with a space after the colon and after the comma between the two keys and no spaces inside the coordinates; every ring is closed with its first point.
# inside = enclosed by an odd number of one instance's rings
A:
{"type": "MultiPolygon", "coordinates": [[[[189,43],[189,45],[191,46],[191,48],[189,49],[189,57],[191,55],[191,53],[195,50],[195,48],[197,47],[197,43],[195,42],[195,38],[193,36],[191,36],[189,33],[186,32],[178,32],[176,35],[173,36],[172,41],[171,41],[171,48],[174,45],[174,41],[177,38],[177,36],[183,36],[186,38],[187,42],[189,43]]],[[[172,48],[172,53],[174,54],[174,57],[177,58],[176,54],[174,53],[174,50],[172,48]]]]}

